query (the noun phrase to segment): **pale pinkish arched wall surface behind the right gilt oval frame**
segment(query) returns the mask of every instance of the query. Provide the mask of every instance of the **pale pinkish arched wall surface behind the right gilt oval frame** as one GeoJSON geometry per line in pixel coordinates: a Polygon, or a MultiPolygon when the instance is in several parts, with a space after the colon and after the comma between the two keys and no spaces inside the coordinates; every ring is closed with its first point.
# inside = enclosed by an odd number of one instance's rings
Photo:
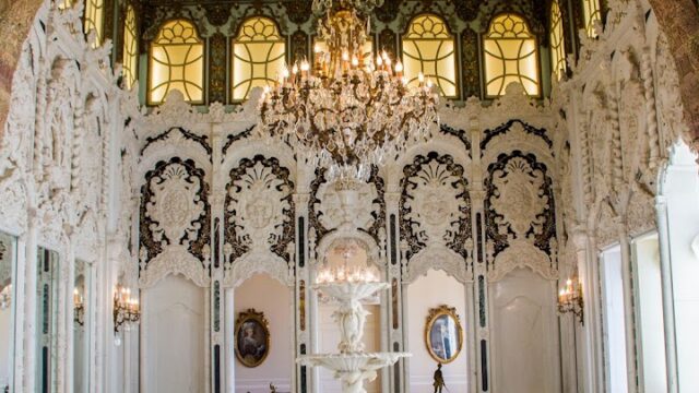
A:
{"type": "Polygon", "coordinates": [[[441,305],[455,307],[464,331],[463,346],[459,357],[442,366],[445,382],[451,392],[465,392],[469,382],[466,336],[473,334],[472,321],[467,320],[466,298],[463,284],[442,271],[430,270],[426,276],[407,286],[407,352],[413,354],[410,365],[411,392],[433,391],[433,374],[437,361],[427,352],[425,324],[429,310],[441,305]]]}

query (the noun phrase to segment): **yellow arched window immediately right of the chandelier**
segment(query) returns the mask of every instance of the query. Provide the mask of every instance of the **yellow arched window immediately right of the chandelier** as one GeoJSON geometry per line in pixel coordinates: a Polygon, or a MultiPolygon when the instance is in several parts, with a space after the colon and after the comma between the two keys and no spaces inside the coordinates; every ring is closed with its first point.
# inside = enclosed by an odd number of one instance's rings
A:
{"type": "Polygon", "coordinates": [[[422,72],[445,97],[457,97],[457,51],[447,23],[437,15],[418,15],[403,36],[403,68],[408,83],[422,72]]]}

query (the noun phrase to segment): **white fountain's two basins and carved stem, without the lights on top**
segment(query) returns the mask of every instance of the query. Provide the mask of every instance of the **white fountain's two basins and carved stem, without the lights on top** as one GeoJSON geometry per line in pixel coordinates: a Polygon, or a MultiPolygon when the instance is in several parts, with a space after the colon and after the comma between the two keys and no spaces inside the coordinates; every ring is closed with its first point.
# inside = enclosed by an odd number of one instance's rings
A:
{"type": "Polygon", "coordinates": [[[310,367],[323,367],[332,370],[334,378],[342,384],[343,393],[366,393],[365,381],[374,381],[377,370],[394,365],[407,353],[365,353],[364,325],[369,312],[362,300],[389,288],[388,283],[339,282],[317,284],[313,290],[322,293],[339,302],[333,319],[340,329],[339,354],[305,355],[298,362],[310,367]]]}

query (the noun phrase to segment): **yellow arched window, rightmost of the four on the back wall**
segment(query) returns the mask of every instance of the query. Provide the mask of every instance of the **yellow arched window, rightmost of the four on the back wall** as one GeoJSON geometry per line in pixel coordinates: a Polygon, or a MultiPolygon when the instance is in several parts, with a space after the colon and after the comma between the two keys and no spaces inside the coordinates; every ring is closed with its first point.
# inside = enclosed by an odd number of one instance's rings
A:
{"type": "Polygon", "coordinates": [[[483,49],[488,97],[505,94],[512,82],[520,83],[529,95],[540,95],[536,37],[521,16],[496,16],[483,38],[483,49]]]}

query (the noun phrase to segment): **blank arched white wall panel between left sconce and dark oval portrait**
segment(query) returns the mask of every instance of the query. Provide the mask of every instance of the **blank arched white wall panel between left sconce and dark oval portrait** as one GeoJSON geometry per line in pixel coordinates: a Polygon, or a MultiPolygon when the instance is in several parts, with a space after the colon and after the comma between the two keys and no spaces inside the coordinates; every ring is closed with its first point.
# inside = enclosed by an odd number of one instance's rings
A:
{"type": "Polygon", "coordinates": [[[204,294],[190,281],[171,275],[142,291],[144,392],[205,392],[204,294]]]}

